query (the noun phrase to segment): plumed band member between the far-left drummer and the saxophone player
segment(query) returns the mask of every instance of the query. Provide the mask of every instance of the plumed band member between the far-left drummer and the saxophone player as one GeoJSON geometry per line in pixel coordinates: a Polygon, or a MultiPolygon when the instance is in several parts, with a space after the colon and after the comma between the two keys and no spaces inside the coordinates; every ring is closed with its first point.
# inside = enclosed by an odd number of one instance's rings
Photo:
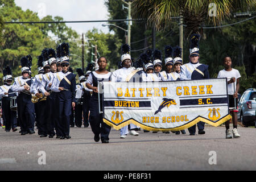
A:
{"type": "Polygon", "coordinates": [[[16,77],[13,85],[13,91],[18,92],[17,106],[18,118],[20,122],[21,135],[33,134],[35,125],[35,108],[31,101],[30,86],[32,84],[29,78],[30,61],[28,57],[22,57],[22,76],[16,77]]]}

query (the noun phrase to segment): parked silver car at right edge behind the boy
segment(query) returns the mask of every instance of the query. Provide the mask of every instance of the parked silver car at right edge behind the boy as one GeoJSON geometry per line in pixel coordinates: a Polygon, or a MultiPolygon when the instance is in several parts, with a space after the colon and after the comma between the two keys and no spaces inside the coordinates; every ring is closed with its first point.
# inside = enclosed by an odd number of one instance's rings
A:
{"type": "Polygon", "coordinates": [[[238,102],[237,118],[245,125],[255,126],[255,113],[256,113],[256,89],[251,88],[245,90],[238,102]]]}

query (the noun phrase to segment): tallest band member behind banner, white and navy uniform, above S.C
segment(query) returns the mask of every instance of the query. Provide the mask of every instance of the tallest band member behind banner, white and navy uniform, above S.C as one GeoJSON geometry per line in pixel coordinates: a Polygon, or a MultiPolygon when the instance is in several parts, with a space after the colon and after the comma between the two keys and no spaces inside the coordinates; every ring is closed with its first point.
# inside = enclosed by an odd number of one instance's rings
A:
{"type": "MultiPolygon", "coordinates": [[[[181,80],[199,80],[209,78],[208,65],[199,63],[199,34],[191,35],[191,45],[189,49],[190,62],[181,66],[180,79],[181,80]]],[[[204,122],[198,122],[198,134],[205,134],[204,122]]],[[[189,127],[189,135],[195,135],[196,125],[189,127]]]]}

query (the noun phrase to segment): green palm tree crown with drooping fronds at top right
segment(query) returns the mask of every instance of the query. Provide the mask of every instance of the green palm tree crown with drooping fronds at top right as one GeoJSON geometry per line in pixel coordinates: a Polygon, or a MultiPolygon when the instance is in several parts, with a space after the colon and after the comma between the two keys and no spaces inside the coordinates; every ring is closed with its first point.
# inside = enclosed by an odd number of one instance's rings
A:
{"type": "Polygon", "coordinates": [[[158,31],[170,28],[171,17],[181,15],[189,36],[192,32],[198,33],[202,23],[218,26],[232,13],[255,10],[255,5],[255,0],[134,0],[133,13],[155,24],[158,31]],[[213,6],[209,6],[210,3],[214,3],[213,6]]]}

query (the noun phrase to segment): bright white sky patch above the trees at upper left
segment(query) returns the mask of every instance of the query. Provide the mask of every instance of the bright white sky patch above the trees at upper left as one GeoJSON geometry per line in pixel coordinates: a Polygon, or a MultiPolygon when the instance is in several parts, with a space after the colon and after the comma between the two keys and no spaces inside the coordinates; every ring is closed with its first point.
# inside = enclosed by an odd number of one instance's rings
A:
{"type": "MultiPolygon", "coordinates": [[[[107,20],[108,10],[104,5],[105,0],[15,0],[22,10],[30,9],[38,13],[39,18],[46,15],[61,16],[65,21],[79,20],[107,20]]],[[[93,27],[109,32],[108,26],[103,27],[104,22],[96,23],[67,23],[80,35],[82,32],[92,30],[93,27]]]]}

